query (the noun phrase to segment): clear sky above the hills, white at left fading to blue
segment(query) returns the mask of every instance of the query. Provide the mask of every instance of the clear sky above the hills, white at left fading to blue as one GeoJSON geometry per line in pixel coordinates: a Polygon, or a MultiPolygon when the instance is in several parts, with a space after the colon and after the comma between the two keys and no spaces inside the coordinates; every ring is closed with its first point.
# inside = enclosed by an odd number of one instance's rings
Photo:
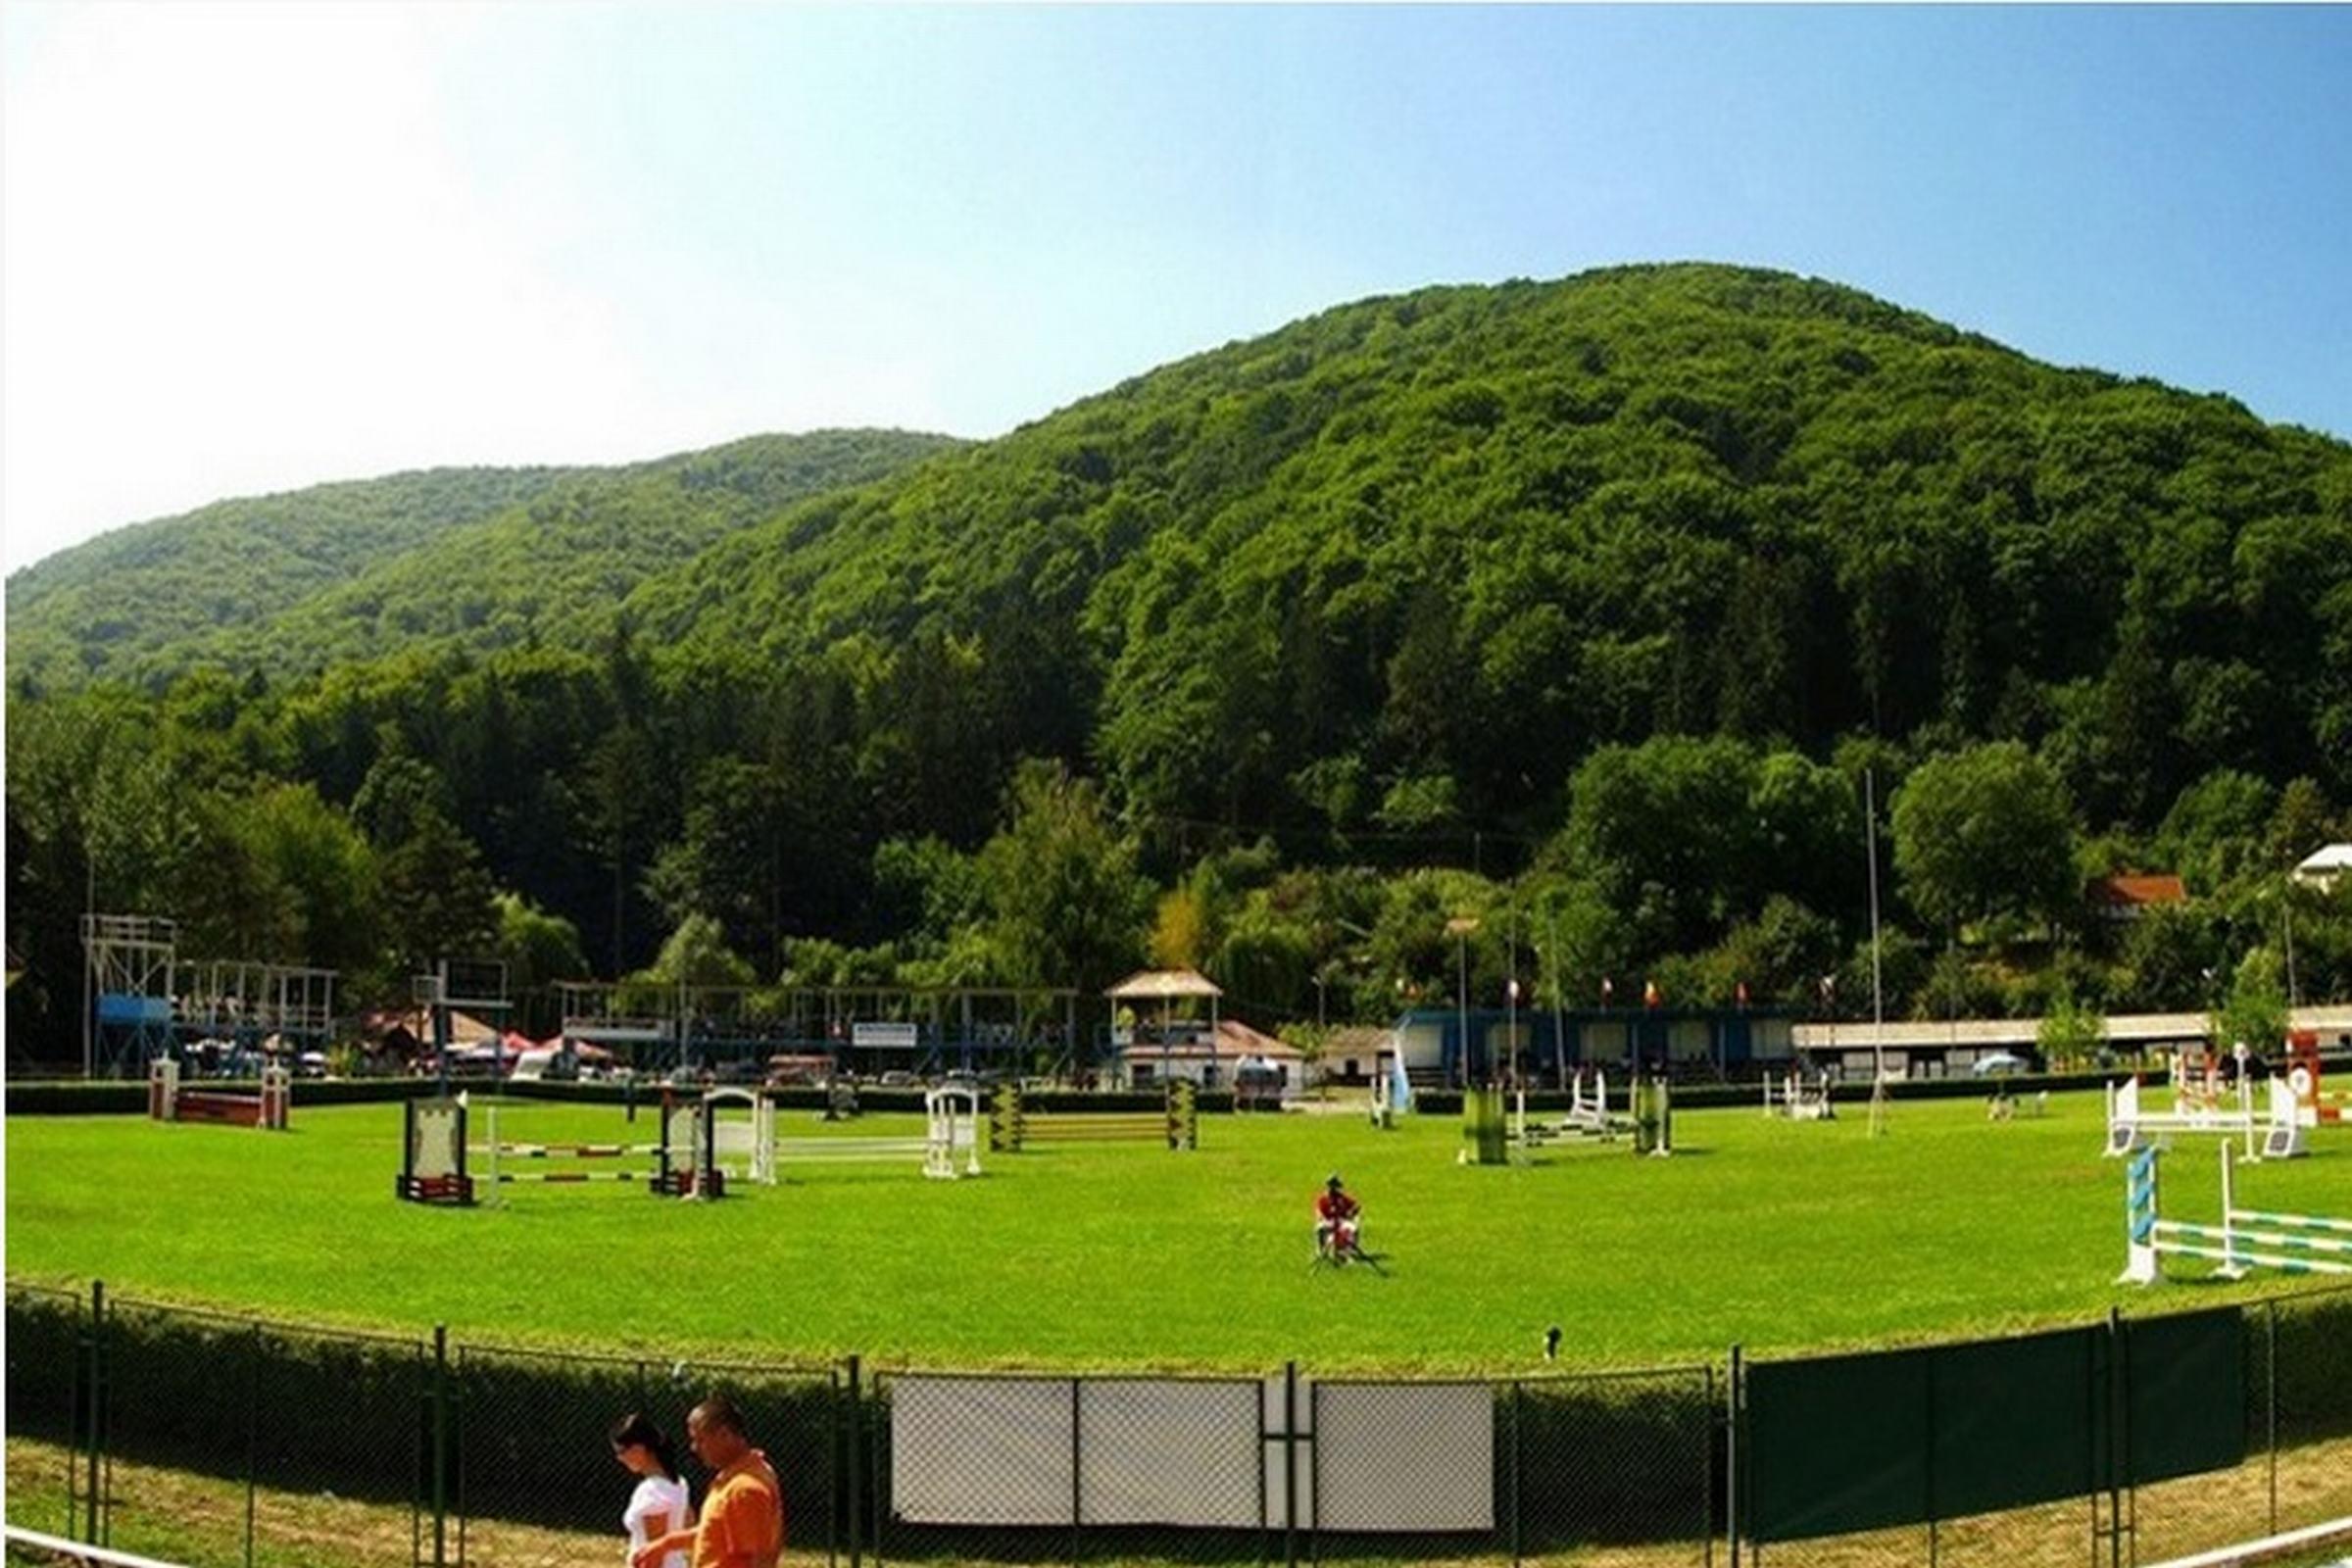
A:
{"type": "Polygon", "coordinates": [[[1616,261],[2352,437],[2338,7],[9,5],[0,47],[9,567],[405,465],[995,435],[1616,261]]]}

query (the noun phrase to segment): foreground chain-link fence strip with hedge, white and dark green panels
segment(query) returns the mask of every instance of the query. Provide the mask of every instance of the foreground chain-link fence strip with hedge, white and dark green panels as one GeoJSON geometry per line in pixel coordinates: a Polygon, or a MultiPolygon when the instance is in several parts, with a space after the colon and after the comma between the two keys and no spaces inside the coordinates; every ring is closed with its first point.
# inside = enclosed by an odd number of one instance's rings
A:
{"type": "Polygon", "coordinates": [[[795,1566],[2126,1568],[2352,1516],[2347,1345],[2338,1286],[1632,1371],[974,1373],[365,1335],[9,1284],[7,1512],[202,1568],[308,1568],[334,1509],[374,1521],[334,1535],[339,1566],[553,1561],[607,1544],[609,1422],[677,1429],[724,1389],[786,1483],[795,1566]]]}

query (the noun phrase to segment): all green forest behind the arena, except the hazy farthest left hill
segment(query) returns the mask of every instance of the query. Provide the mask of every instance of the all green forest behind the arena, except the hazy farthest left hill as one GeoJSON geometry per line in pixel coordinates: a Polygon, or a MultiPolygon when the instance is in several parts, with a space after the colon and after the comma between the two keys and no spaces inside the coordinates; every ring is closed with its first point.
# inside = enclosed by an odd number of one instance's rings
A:
{"type": "Polygon", "coordinates": [[[12,1041],[71,1020],[85,877],[355,992],[717,931],[762,983],[1152,954],[1381,1018],[1470,910],[1496,992],[1811,1004],[1863,771],[1898,1011],[2277,990],[2288,912],[2296,990],[2352,990],[2352,900],[2281,877],[2347,832],[2352,447],[2227,397],[1658,266],[898,442],[550,477],[101,682],[19,661],[12,581],[12,1041]],[[2103,922],[2107,870],[2194,898],[2103,922]]]}

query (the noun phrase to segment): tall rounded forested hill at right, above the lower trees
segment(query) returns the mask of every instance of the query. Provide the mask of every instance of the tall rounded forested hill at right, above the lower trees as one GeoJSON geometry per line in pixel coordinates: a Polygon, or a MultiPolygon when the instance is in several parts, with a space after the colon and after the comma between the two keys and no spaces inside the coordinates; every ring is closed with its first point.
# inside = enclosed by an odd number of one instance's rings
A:
{"type": "Polygon", "coordinates": [[[1374,299],[818,498],[659,639],[880,639],[1143,818],[1543,832],[1656,731],[2046,743],[2089,820],[2352,788],[2352,449],[1853,289],[1661,266],[1374,299]],[[962,649],[955,654],[950,649],[962,649]]]}

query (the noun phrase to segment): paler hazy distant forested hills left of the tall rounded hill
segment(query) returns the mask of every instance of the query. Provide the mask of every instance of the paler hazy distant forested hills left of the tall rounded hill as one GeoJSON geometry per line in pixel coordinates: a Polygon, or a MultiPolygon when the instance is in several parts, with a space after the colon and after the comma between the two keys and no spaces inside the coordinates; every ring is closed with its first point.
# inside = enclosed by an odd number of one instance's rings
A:
{"type": "Polygon", "coordinates": [[[950,437],[757,435],[623,468],[475,468],[221,501],[7,583],[9,677],[287,675],[416,642],[586,644],[647,574],[950,437]]]}

